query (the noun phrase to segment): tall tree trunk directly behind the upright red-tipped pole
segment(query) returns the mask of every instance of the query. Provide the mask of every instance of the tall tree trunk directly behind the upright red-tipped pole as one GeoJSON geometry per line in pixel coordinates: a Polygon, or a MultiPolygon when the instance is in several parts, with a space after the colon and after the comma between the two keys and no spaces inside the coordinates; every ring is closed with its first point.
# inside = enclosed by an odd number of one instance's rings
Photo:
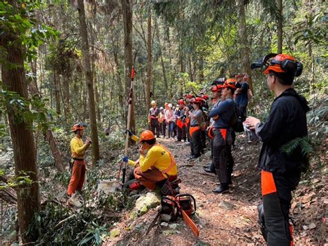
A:
{"type": "MultiPolygon", "coordinates": [[[[131,82],[131,69],[133,65],[132,57],[132,2],[131,0],[121,0],[122,17],[124,29],[124,58],[125,58],[125,96],[126,102],[129,100],[129,89],[131,82]]],[[[126,105],[128,105],[126,103],[126,105]]],[[[126,107],[127,109],[127,107],[126,107]]],[[[127,114],[126,114],[127,115],[127,114]]],[[[132,98],[130,129],[136,132],[136,121],[134,118],[134,98],[132,98]]]]}

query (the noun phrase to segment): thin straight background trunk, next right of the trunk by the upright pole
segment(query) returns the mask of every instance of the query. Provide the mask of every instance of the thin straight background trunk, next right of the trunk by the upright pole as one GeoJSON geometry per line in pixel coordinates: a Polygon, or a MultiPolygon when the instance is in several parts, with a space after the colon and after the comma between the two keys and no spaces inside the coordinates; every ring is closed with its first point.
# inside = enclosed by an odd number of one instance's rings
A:
{"type": "Polygon", "coordinates": [[[148,9],[147,21],[147,78],[146,78],[146,112],[150,107],[150,87],[152,84],[152,12],[148,9]]]}

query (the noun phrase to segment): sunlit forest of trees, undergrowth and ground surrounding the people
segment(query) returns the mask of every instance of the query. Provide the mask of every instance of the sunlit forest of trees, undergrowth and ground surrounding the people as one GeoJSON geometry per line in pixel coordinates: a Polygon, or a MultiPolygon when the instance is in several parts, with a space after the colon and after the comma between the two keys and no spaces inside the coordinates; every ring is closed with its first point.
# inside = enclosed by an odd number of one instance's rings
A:
{"type": "Polygon", "coordinates": [[[302,62],[293,88],[309,105],[307,137],[285,146],[309,157],[292,193],[293,240],[328,243],[327,23],[325,0],[0,1],[0,245],[264,244],[262,143],[244,132],[232,147],[233,185],[219,195],[215,175],[203,172],[209,143],[190,159],[187,141],[157,136],[176,160],[181,191],[196,198],[199,236],[182,218],[153,225],[161,197],[136,208],[147,190],[102,192],[101,184],[122,183],[123,157],[138,159],[126,129],[138,137],[150,129],[153,100],[178,108],[185,95],[211,98],[213,81],[245,73],[247,116],[265,121],[275,95],[250,67],[269,53],[302,62]],[[91,145],[83,204],[72,207],[70,143],[80,123],[91,145]]]}

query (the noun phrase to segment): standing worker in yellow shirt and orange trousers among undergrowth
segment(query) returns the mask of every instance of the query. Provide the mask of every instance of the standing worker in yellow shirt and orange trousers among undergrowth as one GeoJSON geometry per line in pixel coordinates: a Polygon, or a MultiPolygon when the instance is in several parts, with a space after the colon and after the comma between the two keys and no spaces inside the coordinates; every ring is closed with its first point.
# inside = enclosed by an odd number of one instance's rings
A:
{"type": "Polygon", "coordinates": [[[73,125],[73,130],[75,136],[71,140],[71,153],[72,159],[70,161],[71,165],[71,181],[69,182],[69,188],[67,189],[67,195],[71,197],[69,202],[71,201],[73,205],[80,206],[80,202],[76,199],[76,191],[81,191],[85,179],[86,173],[86,165],[84,154],[85,151],[91,145],[91,139],[86,137],[85,143],[83,143],[82,137],[84,134],[84,129],[86,128],[86,124],[78,123],[73,125]]]}

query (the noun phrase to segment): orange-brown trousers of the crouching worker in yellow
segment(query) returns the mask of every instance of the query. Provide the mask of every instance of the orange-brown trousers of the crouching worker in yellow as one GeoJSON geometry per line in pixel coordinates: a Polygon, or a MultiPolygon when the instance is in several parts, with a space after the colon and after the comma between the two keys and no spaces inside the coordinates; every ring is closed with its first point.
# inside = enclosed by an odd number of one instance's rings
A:
{"type": "Polygon", "coordinates": [[[152,166],[147,171],[143,172],[140,166],[134,168],[134,177],[143,184],[146,188],[153,191],[156,188],[156,183],[160,182],[166,177],[164,177],[163,173],[152,166]]]}

